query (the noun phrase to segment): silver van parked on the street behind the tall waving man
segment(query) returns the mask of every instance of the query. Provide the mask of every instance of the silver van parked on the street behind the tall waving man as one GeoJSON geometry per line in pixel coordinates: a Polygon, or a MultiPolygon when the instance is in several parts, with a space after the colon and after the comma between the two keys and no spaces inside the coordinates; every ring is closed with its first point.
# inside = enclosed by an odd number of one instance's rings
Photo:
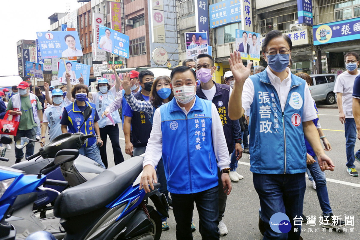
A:
{"type": "Polygon", "coordinates": [[[333,92],[336,74],[312,74],[311,96],[315,102],[325,101],[327,104],[334,104],[336,101],[333,92]]]}

